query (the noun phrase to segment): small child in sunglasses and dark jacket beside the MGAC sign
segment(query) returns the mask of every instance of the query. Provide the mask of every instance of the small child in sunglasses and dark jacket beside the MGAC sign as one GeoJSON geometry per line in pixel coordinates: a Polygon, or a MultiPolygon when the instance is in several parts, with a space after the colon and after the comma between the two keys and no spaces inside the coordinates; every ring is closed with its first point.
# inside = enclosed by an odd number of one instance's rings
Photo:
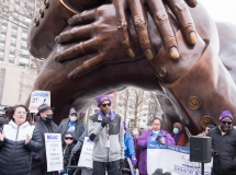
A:
{"type": "MultiPolygon", "coordinates": [[[[74,140],[72,132],[66,132],[66,135],[64,137],[64,143],[63,143],[64,166],[68,165],[74,147],[75,147],[75,140],[74,140]]],[[[71,161],[72,161],[72,159],[71,159],[71,161]]],[[[69,170],[67,170],[67,168],[63,170],[60,172],[60,175],[68,174],[68,171],[69,170]]]]}

